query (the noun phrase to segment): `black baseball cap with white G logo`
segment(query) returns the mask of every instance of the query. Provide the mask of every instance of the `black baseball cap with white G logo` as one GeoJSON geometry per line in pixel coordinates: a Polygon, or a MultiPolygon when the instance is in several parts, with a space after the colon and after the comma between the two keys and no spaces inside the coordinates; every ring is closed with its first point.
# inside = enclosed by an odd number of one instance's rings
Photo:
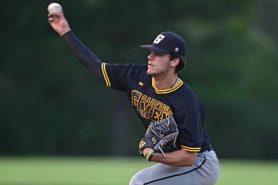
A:
{"type": "Polygon", "coordinates": [[[186,44],[184,40],[175,32],[162,32],[153,41],[152,45],[142,45],[156,53],[177,53],[185,56],[186,44]]]}

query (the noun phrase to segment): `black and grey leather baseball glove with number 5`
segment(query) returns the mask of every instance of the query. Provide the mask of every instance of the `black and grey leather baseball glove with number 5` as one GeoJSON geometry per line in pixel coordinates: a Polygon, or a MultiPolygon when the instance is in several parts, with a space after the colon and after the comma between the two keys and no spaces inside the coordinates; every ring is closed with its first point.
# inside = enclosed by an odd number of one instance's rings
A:
{"type": "Polygon", "coordinates": [[[143,149],[149,147],[155,151],[161,152],[165,157],[164,152],[171,152],[177,148],[175,143],[178,134],[178,126],[173,116],[169,116],[168,118],[162,119],[161,121],[155,123],[151,122],[145,137],[140,140],[140,155],[143,156],[143,149]]]}

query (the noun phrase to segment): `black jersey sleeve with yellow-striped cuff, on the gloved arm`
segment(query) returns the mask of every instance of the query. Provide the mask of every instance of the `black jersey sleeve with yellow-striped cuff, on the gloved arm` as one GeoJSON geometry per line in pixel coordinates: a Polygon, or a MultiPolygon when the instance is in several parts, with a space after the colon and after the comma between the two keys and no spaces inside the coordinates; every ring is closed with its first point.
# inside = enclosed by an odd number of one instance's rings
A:
{"type": "Polygon", "coordinates": [[[185,116],[183,123],[178,125],[180,148],[186,151],[200,151],[203,143],[202,122],[199,110],[185,116]]]}

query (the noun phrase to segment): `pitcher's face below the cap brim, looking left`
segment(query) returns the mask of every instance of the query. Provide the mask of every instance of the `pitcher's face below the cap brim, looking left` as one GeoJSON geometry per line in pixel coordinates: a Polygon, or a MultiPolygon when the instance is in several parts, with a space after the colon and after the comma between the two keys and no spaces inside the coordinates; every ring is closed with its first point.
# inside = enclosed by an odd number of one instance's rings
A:
{"type": "Polygon", "coordinates": [[[151,51],[148,56],[148,71],[149,75],[159,75],[166,73],[170,67],[169,53],[156,53],[151,51]]]}

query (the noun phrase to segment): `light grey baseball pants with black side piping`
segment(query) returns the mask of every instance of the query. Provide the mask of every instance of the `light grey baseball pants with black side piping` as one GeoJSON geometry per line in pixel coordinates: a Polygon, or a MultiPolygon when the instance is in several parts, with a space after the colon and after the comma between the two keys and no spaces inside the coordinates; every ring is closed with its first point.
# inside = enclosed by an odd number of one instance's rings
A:
{"type": "Polygon", "coordinates": [[[204,151],[197,154],[193,166],[175,167],[159,163],[136,173],[129,185],[214,185],[219,173],[220,164],[215,151],[204,151]]]}

